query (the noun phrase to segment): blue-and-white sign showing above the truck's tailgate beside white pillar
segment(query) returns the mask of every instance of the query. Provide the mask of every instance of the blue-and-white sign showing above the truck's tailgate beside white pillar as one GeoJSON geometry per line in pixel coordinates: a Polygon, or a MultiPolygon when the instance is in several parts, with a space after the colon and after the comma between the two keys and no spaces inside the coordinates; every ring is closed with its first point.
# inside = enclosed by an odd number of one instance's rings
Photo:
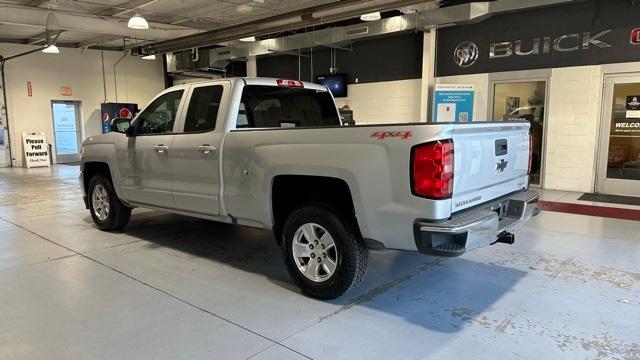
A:
{"type": "Polygon", "coordinates": [[[433,121],[473,121],[474,95],[473,85],[436,84],[433,95],[433,121]]]}

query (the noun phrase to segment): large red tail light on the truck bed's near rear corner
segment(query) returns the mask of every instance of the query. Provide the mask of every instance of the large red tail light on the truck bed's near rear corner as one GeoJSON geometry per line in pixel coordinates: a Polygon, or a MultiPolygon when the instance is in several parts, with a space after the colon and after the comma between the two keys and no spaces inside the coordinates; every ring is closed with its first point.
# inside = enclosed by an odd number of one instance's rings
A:
{"type": "Polygon", "coordinates": [[[429,199],[451,197],[453,141],[433,141],[411,149],[411,191],[429,199]]]}

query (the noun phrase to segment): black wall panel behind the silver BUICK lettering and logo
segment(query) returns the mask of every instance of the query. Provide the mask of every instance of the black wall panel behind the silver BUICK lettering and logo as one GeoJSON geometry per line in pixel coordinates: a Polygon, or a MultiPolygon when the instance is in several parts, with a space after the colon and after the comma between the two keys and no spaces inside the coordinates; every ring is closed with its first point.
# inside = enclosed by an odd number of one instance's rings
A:
{"type": "MultiPolygon", "coordinates": [[[[511,70],[540,69],[579,65],[630,62],[640,60],[640,45],[630,42],[631,31],[640,27],[640,2],[630,0],[584,1],[491,17],[483,22],[438,31],[437,76],[511,70]],[[588,49],[558,52],[550,50],[528,56],[515,54],[504,58],[489,57],[491,43],[522,41],[522,50],[531,50],[534,38],[550,37],[551,42],[565,34],[584,32],[595,35],[611,30],[598,40],[611,47],[589,44],[588,49]],[[479,48],[478,60],[467,68],[454,61],[458,44],[472,41],[479,48]]],[[[576,39],[563,40],[566,46],[580,44],[576,39]]],[[[542,46],[542,45],[541,45],[542,46]]]]}

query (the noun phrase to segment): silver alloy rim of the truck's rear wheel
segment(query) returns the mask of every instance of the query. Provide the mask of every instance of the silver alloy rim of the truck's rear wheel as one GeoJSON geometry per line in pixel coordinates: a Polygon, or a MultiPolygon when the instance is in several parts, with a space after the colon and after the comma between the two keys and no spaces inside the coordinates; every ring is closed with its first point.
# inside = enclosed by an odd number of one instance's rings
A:
{"type": "Polygon", "coordinates": [[[306,223],[300,226],[293,235],[291,246],[298,271],[307,279],[323,282],[336,272],[336,243],[327,229],[321,225],[306,223]]]}

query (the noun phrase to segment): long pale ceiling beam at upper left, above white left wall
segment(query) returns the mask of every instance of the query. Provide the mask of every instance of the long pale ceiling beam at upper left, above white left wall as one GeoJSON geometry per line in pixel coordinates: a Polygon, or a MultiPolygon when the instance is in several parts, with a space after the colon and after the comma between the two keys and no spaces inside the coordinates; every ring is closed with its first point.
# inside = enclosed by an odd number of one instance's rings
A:
{"type": "Polygon", "coordinates": [[[65,11],[51,12],[17,5],[0,5],[0,24],[31,26],[46,28],[46,20],[50,13],[55,13],[57,25],[66,31],[76,31],[91,34],[117,35],[120,37],[144,38],[152,41],[174,39],[197,34],[199,31],[176,25],[150,23],[147,30],[133,30],[127,28],[125,19],[101,18],[87,16],[87,14],[70,13],[65,11]]]}

